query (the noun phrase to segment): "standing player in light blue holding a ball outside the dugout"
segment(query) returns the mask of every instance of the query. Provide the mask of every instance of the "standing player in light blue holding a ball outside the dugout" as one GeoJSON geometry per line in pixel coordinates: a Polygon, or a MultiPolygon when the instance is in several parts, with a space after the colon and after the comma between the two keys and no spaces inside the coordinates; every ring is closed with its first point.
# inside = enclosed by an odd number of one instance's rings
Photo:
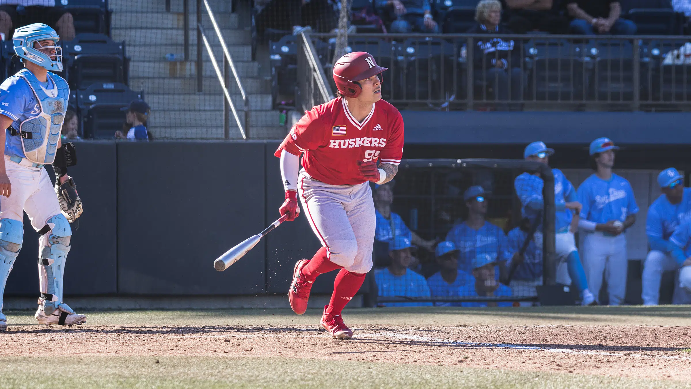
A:
{"type": "Polygon", "coordinates": [[[626,291],[628,257],[623,232],[636,221],[638,206],[629,181],[612,172],[614,150],[608,138],[590,143],[591,168],[596,172],[578,187],[578,226],[585,230],[583,256],[593,293],[600,295],[603,273],[607,277],[609,305],[619,305],[626,291]]]}

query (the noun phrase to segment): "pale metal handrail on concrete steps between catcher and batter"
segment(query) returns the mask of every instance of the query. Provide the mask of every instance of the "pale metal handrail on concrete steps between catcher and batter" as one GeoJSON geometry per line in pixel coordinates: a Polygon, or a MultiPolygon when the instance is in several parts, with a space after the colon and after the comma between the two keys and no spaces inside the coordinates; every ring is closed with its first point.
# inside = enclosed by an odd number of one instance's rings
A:
{"type": "MultiPolygon", "coordinates": [[[[240,133],[243,135],[243,139],[247,139],[247,132],[249,131],[249,98],[247,96],[247,93],[245,93],[245,88],[243,88],[243,83],[240,82],[240,76],[238,75],[238,71],[235,69],[235,64],[233,62],[233,58],[230,55],[230,52],[228,51],[228,46],[225,44],[225,39],[223,39],[223,34],[220,31],[220,28],[218,28],[218,24],[216,23],[216,17],[214,16],[214,11],[211,10],[211,7],[209,6],[209,3],[207,0],[197,0],[197,30],[198,34],[200,37],[204,40],[204,44],[207,48],[207,53],[209,53],[209,57],[211,58],[211,64],[214,66],[214,70],[216,71],[216,75],[218,76],[218,82],[221,84],[221,88],[223,89],[223,95],[225,96],[225,102],[223,105],[224,111],[223,111],[223,133],[225,138],[229,138],[229,122],[227,120],[227,107],[230,108],[231,112],[233,113],[233,116],[235,118],[236,123],[238,124],[238,128],[240,129],[240,133]],[[207,14],[209,15],[209,19],[211,19],[211,25],[214,27],[214,31],[216,32],[216,36],[218,37],[218,40],[220,41],[220,46],[223,48],[223,68],[224,72],[221,73],[220,68],[218,66],[218,62],[216,62],[216,57],[214,56],[213,51],[211,51],[211,46],[209,45],[209,41],[207,39],[204,27],[201,24],[201,3],[204,3],[204,6],[207,10],[207,14]],[[245,111],[245,125],[243,126],[242,123],[240,123],[240,117],[238,116],[238,113],[235,109],[235,105],[233,104],[233,101],[230,98],[230,93],[228,92],[228,80],[227,80],[227,68],[230,68],[230,70],[233,72],[233,76],[235,78],[236,83],[238,84],[238,89],[240,90],[240,95],[243,97],[243,105],[244,105],[244,111],[245,111]]],[[[199,41],[199,37],[197,38],[199,41]]],[[[202,78],[202,56],[201,56],[201,51],[199,48],[200,45],[197,46],[197,90],[198,91],[203,91],[203,78],[202,78]]]]}

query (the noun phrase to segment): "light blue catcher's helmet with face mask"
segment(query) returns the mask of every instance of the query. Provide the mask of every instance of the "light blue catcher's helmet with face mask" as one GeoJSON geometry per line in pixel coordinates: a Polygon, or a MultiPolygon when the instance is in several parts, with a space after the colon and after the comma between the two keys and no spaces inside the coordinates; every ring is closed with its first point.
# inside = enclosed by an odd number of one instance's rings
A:
{"type": "Polygon", "coordinates": [[[60,37],[53,28],[46,24],[35,23],[23,26],[15,30],[12,35],[12,44],[15,46],[15,53],[21,61],[33,62],[50,71],[62,71],[62,48],[57,44],[60,37]],[[53,46],[43,46],[41,48],[55,48],[55,60],[50,56],[41,53],[34,47],[34,42],[52,40],[53,46]]]}

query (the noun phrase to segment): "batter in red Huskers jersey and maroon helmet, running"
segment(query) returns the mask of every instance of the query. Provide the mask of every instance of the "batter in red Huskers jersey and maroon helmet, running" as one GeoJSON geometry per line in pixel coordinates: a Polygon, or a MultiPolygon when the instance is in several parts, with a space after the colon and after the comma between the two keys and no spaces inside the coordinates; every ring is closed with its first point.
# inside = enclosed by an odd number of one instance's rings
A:
{"type": "Polygon", "coordinates": [[[312,260],[295,264],[290,307],[305,313],[317,275],[340,269],[321,317],[321,326],[334,338],[352,337],[341,310],[372,268],[376,218],[369,181],[391,181],[403,155],[403,119],[381,100],[385,70],[368,53],[343,55],[333,71],[339,97],[305,113],[275,154],[281,157],[285,189],[279,212],[287,220],[297,217],[299,196],[323,246],[312,260]]]}

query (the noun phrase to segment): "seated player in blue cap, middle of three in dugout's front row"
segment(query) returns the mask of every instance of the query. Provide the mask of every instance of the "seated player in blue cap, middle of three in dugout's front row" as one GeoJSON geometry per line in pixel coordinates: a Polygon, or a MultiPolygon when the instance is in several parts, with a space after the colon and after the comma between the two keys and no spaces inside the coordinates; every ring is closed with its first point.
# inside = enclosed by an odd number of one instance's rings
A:
{"type": "MultiPolygon", "coordinates": [[[[453,242],[440,242],[435,251],[439,271],[427,279],[432,297],[460,297],[471,276],[458,269],[458,248],[453,242]]],[[[435,307],[460,307],[460,302],[435,302],[435,307]]]]}

